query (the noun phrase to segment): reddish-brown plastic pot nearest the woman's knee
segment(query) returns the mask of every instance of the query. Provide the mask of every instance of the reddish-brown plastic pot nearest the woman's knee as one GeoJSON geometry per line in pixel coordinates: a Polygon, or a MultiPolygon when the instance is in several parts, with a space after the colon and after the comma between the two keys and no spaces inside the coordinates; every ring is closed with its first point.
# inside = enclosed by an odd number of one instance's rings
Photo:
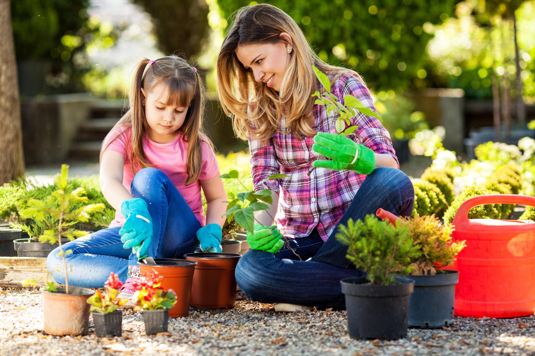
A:
{"type": "Polygon", "coordinates": [[[192,285],[192,306],[197,308],[233,308],[236,303],[234,271],[239,254],[202,252],[184,255],[197,262],[192,285]]]}

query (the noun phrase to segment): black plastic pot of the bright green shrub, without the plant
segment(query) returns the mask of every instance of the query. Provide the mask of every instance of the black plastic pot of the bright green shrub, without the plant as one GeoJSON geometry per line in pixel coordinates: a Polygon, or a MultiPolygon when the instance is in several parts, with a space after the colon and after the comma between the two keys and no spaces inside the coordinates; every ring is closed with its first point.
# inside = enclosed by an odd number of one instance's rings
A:
{"type": "Polygon", "coordinates": [[[414,281],[395,278],[389,286],[369,284],[365,277],[340,281],[346,296],[349,336],[354,339],[396,340],[407,337],[410,295],[414,281]]]}

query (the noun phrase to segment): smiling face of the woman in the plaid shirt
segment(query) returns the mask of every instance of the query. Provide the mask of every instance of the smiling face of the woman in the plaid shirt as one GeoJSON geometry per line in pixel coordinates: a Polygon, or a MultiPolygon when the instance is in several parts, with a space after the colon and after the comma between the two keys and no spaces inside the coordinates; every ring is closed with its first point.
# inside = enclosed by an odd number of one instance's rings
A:
{"type": "Polygon", "coordinates": [[[276,91],[280,90],[292,53],[289,35],[283,32],[280,36],[289,43],[279,41],[274,44],[247,44],[236,48],[236,57],[246,69],[253,71],[255,81],[263,82],[276,91]]]}

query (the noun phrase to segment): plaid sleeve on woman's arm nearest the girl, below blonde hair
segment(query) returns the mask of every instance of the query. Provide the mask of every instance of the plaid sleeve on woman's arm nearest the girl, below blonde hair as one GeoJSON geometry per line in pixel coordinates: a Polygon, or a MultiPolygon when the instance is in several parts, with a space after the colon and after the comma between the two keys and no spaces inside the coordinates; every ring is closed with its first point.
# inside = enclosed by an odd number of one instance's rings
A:
{"type": "Polygon", "coordinates": [[[267,142],[262,143],[262,141],[253,139],[250,136],[248,141],[251,154],[250,165],[253,189],[255,192],[261,189],[270,189],[279,193],[279,181],[277,179],[270,179],[260,183],[269,176],[280,173],[273,142],[269,139],[267,142]]]}

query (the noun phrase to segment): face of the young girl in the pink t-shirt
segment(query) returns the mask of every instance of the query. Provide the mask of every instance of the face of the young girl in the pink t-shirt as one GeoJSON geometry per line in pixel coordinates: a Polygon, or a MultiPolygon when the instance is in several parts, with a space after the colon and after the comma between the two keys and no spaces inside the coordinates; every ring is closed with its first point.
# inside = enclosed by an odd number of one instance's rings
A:
{"type": "Polygon", "coordinates": [[[150,127],[150,139],[159,144],[166,144],[178,137],[178,129],[184,124],[187,106],[167,106],[165,101],[169,96],[169,88],[158,83],[146,93],[143,88],[145,117],[150,127]]]}

